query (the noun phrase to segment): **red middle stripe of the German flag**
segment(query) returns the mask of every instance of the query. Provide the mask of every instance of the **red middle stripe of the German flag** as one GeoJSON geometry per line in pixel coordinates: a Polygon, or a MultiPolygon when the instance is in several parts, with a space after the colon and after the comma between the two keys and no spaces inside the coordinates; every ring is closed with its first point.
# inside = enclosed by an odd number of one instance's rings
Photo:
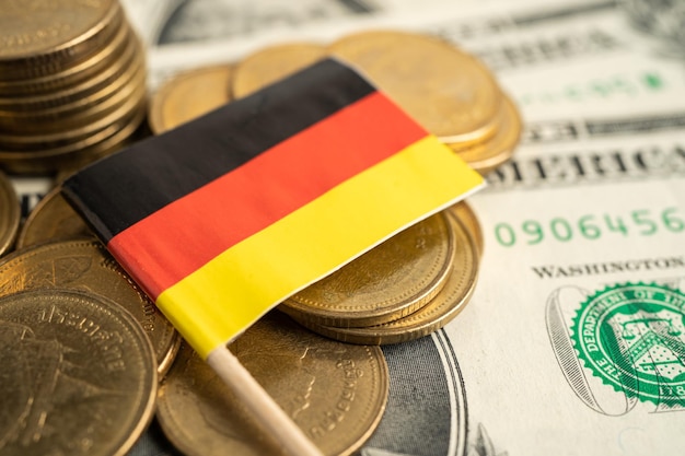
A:
{"type": "Polygon", "coordinates": [[[427,135],[374,92],[131,225],[107,247],[156,300],[231,246],[427,135]]]}

